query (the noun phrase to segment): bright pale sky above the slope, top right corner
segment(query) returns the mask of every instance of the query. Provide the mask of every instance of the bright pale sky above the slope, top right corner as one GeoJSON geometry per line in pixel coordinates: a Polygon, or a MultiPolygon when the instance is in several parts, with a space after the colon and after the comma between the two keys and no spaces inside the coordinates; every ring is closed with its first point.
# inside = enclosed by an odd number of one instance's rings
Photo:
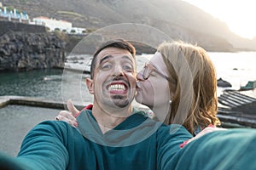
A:
{"type": "Polygon", "coordinates": [[[230,31],[241,37],[256,37],[256,1],[254,0],[183,0],[224,21],[230,31]]]}

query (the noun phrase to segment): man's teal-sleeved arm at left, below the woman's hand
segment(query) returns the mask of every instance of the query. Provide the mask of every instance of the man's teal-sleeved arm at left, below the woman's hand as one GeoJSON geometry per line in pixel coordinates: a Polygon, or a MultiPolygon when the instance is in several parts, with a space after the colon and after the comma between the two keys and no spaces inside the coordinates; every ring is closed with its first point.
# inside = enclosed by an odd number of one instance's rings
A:
{"type": "Polygon", "coordinates": [[[68,163],[65,122],[42,122],[23,140],[17,161],[31,169],[66,169],[68,163]]]}

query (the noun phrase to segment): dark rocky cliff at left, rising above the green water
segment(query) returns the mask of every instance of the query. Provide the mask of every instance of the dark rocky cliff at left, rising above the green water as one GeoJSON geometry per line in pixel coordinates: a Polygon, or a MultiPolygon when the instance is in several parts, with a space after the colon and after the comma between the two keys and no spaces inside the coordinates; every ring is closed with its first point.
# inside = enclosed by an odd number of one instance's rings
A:
{"type": "Polygon", "coordinates": [[[0,71],[29,71],[64,65],[66,42],[63,39],[44,29],[39,31],[38,27],[9,26],[13,24],[4,23],[15,30],[0,31],[0,71]]]}

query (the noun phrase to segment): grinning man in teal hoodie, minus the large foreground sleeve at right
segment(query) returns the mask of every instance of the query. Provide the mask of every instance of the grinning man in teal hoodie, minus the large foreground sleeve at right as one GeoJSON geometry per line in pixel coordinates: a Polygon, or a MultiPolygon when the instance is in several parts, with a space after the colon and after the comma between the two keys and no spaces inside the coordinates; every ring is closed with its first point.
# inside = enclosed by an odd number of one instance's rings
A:
{"type": "MultiPolygon", "coordinates": [[[[94,54],[92,111],[82,111],[79,127],[42,122],[26,135],[12,166],[20,169],[157,169],[191,138],[181,126],[154,122],[131,105],[136,93],[135,48],[107,42],[94,54]],[[175,129],[176,133],[170,133],[175,129]],[[17,163],[18,162],[18,163],[17,163]],[[17,164],[16,164],[17,163],[17,164]]],[[[5,161],[5,162],[9,162],[5,161]]]]}

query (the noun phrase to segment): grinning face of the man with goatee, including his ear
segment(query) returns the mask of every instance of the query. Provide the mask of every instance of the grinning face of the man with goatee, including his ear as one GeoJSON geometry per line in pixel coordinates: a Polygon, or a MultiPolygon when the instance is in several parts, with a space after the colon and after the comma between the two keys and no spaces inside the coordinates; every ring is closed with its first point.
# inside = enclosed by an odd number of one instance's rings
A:
{"type": "Polygon", "coordinates": [[[87,79],[90,94],[102,108],[130,106],[136,93],[136,61],[125,49],[105,48],[96,58],[93,80],[87,79]]]}

